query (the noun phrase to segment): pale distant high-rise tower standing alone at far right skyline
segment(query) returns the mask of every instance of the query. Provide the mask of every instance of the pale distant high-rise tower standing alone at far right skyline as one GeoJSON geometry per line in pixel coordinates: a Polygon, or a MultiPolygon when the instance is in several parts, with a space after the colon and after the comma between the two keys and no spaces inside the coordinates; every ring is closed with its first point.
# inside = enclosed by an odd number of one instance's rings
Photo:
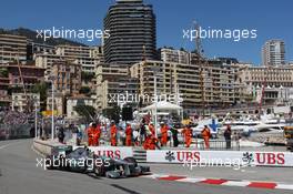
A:
{"type": "Polygon", "coordinates": [[[285,64],[285,43],[282,40],[269,40],[262,49],[262,60],[265,67],[285,64]]]}

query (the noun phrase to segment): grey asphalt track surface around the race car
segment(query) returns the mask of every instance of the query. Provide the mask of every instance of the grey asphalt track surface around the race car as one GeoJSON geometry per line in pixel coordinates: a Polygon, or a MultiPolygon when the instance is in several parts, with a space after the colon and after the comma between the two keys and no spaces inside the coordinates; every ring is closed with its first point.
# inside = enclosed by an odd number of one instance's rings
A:
{"type": "MultiPolygon", "coordinates": [[[[62,171],[37,167],[31,150],[32,140],[0,141],[0,194],[292,194],[286,190],[266,190],[181,183],[146,177],[109,180],[62,171]]],[[[275,181],[293,184],[292,169],[254,167],[243,171],[208,167],[190,171],[180,165],[151,165],[154,173],[224,177],[238,180],[275,181]]]]}

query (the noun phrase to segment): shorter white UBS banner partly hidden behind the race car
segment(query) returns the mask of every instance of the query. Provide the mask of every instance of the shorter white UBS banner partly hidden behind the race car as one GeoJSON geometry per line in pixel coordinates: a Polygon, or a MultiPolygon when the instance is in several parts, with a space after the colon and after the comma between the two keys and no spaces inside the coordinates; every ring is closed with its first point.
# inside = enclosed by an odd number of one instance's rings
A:
{"type": "MultiPolygon", "coordinates": [[[[75,150],[78,146],[73,147],[75,150]]],[[[132,147],[128,146],[89,146],[94,154],[107,157],[124,159],[133,156],[132,147]]]]}

